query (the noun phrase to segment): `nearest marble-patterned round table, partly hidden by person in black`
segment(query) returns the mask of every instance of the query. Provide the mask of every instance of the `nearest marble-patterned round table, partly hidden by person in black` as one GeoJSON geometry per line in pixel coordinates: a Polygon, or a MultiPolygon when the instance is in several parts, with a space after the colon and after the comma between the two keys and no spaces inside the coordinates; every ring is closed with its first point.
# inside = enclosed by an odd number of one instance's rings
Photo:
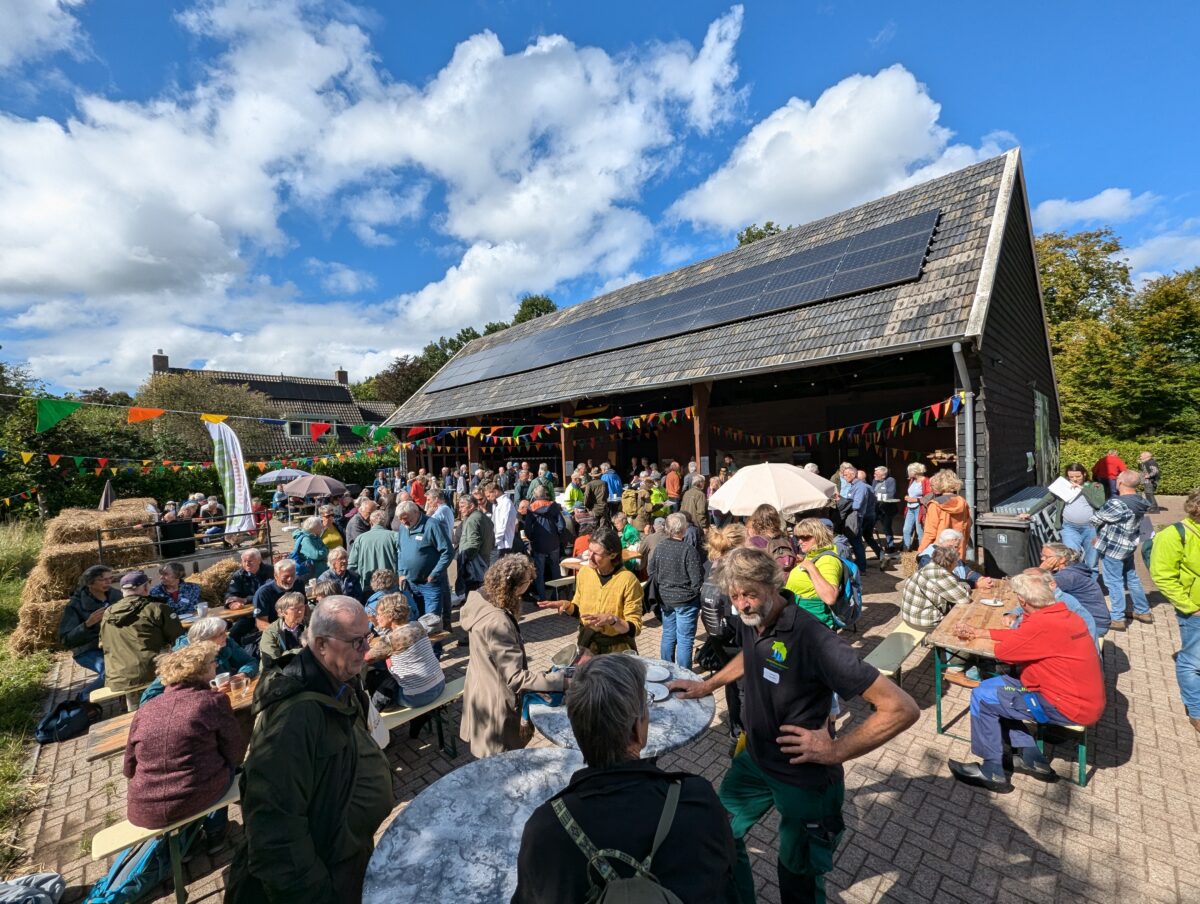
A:
{"type": "Polygon", "coordinates": [[[578,750],[511,750],[468,762],[421,791],[371,855],[362,904],[508,904],[521,833],[583,767],[578,750]]]}

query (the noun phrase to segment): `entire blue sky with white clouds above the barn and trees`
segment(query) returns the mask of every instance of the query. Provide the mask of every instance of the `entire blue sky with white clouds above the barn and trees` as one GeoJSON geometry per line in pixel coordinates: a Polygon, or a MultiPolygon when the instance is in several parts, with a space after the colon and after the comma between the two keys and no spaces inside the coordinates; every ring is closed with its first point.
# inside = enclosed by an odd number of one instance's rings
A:
{"type": "Polygon", "coordinates": [[[0,0],[0,358],[354,379],[1019,144],[1040,228],[1200,264],[1200,11],[0,0]]]}

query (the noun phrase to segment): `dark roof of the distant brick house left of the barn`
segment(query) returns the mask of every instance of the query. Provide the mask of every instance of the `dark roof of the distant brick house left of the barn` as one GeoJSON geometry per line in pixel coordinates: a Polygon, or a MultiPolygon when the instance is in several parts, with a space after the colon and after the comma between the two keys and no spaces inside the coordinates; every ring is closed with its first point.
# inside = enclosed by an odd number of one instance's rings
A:
{"type": "MultiPolygon", "coordinates": [[[[336,379],[316,377],[290,377],[272,373],[241,373],[238,371],[209,371],[191,367],[168,367],[168,373],[204,373],[222,383],[250,387],[252,391],[266,396],[268,406],[276,418],[290,421],[337,424],[337,442],[341,448],[353,449],[362,444],[361,437],[349,431],[358,424],[380,424],[394,406],[380,402],[359,402],[350,388],[336,379]]],[[[326,433],[326,436],[329,436],[326,433]]],[[[266,429],[264,443],[246,449],[251,456],[299,457],[326,453],[324,442],[313,442],[307,430],[301,436],[288,436],[286,426],[271,425],[266,429]]]]}

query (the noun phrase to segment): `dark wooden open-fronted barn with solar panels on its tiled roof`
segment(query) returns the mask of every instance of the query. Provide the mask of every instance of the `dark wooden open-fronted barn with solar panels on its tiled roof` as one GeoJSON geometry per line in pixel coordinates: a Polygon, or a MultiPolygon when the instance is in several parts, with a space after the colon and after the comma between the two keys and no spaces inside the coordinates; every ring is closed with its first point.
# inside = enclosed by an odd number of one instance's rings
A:
{"type": "Polygon", "coordinates": [[[1057,469],[1020,152],[475,340],[386,423],[438,466],[922,461],[986,511],[1057,469]]]}

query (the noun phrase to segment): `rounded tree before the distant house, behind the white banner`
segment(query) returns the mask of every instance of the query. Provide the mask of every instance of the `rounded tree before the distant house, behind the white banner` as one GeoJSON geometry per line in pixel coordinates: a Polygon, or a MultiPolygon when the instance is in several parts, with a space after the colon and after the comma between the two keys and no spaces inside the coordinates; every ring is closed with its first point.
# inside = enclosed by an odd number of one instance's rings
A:
{"type": "MultiPolygon", "coordinates": [[[[222,383],[209,373],[155,373],[138,389],[137,405],[187,412],[238,414],[247,418],[277,418],[268,399],[246,385],[222,383]]],[[[232,420],[244,450],[266,445],[269,427],[253,420],[232,420]]],[[[138,425],[156,450],[154,457],[202,459],[212,456],[212,438],[196,414],[164,414],[138,425]]]]}

